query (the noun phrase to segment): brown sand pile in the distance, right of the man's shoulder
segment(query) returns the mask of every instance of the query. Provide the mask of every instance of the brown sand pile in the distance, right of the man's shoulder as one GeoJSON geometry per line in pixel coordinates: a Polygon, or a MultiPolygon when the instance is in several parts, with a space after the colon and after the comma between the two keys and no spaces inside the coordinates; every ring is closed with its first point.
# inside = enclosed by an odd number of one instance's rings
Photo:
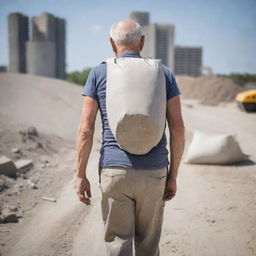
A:
{"type": "Polygon", "coordinates": [[[241,86],[224,77],[177,76],[176,79],[184,98],[196,99],[205,105],[217,105],[220,102],[233,101],[237,93],[244,91],[241,86]]]}

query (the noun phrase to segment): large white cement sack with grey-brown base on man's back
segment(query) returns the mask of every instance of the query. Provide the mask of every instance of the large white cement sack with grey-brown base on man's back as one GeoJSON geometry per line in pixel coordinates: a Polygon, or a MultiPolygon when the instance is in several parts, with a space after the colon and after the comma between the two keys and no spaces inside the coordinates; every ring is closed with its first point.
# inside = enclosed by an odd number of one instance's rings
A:
{"type": "Polygon", "coordinates": [[[107,59],[106,110],[118,145],[143,155],[162,138],[166,121],[166,82],[160,60],[107,59]]]}

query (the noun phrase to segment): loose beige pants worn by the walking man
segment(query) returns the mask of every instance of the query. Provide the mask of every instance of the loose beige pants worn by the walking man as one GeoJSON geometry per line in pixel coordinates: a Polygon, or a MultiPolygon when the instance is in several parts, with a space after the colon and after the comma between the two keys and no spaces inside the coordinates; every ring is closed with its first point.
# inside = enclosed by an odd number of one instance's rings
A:
{"type": "Polygon", "coordinates": [[[108,256],[159,256],[167,168],[99,169],[108,256]]]}

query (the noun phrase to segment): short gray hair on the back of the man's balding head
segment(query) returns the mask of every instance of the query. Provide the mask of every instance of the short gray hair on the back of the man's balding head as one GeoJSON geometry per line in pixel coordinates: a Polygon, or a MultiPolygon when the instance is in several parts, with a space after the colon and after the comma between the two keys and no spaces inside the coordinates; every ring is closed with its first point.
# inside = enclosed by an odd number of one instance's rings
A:
{"type": "Polygon", "coordinates": [[[135,21],[128,25],[124,25],[123,21],[116,22],[110,29],[110,36],[117,45],[138,44],[142,35],[141,26],[135,21]]]}

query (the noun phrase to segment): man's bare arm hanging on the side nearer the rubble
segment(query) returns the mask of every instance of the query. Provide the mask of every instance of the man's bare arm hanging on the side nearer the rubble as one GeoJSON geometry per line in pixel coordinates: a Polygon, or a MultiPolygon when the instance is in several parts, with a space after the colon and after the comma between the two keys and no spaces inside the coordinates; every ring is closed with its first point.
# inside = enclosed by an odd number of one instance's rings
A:
{"type": "Polygon", "coordinates": [[[90,204],[91,197],[90,182],[86,177],[86,166],[93,145],[93,134],[95,120],[98,111],[98,101],[92,97],[85,96],[82,107],[80,125],[77,131],[76,152],[77,152],[77,194],[80,201],[90,204]]]}

